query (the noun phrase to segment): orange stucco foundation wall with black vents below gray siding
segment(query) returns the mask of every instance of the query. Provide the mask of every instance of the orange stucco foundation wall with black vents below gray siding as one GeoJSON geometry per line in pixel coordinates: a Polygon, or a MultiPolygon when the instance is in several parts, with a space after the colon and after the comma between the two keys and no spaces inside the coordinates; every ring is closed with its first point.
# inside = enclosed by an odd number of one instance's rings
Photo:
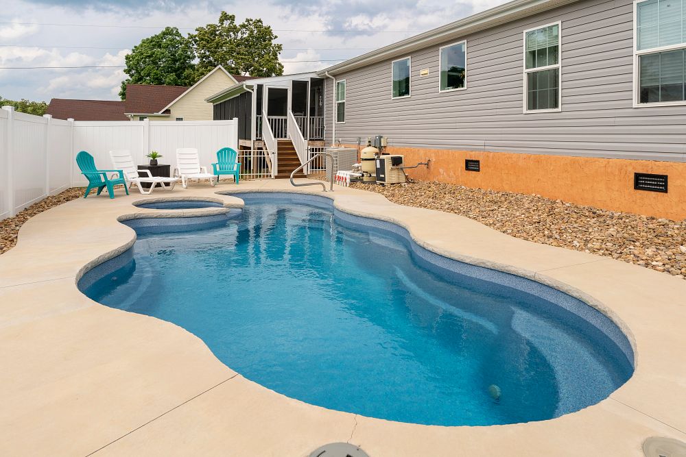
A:
{"type": "Polygon", "coordinates": [[[472,188],[539,194],[580,205],[680,221],[686,219],[686,163],[547,156],[538,154],[449,151],[388,147],[403,154],[405,165],[431,159],[429,170],[407,170],[417,180],[472,188]],[[466,171],[465,159],[481,161],[481,171],[466,171]],[[668,192],[634,189],[634,173],[668,175],[668,192]]]}

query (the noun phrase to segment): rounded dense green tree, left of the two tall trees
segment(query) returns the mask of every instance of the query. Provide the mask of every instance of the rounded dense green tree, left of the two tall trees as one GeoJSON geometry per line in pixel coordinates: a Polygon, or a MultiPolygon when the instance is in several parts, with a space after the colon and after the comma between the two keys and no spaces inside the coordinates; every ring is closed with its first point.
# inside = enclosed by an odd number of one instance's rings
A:
{"type": "Polygon", "coordinates": [[[119,97],[126,99],[126,84],[191,86],[196,82],[193,45],[176,27],[143,38],[126,55],[128,78],[121,82],[119,97]]]}

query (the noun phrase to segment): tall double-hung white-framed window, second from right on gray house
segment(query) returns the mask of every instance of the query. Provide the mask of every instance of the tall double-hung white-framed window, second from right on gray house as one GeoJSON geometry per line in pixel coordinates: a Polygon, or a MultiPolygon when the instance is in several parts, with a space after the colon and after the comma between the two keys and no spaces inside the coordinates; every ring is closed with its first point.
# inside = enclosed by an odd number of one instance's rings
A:
{"type": "Polygon", "coordinates": [[[524,31],[524,112],[560,110],[560,23],[524,31]]]}

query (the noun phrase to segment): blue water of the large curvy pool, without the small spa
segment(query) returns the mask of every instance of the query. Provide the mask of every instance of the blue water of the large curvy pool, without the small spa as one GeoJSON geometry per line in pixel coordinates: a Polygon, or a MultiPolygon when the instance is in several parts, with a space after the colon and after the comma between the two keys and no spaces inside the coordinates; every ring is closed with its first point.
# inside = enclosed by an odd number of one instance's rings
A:
{"type": "Polygon", "coordinates": [[[137,226],[80,288],[186,328],[274,391],[394,421],[550,419],[632,373],[624,334],[568,295],[442,258],[326,199],[239,197],[238,217],[202,230],[137,226]]]}

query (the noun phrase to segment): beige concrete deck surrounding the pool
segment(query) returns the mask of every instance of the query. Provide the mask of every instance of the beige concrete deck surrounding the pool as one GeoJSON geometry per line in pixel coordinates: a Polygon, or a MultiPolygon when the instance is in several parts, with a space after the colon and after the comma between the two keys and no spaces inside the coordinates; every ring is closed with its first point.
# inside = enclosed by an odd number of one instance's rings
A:
{"type": "MultiPolygon", "coordinates": [[[[180,265],[180,268],[182,266],[180,265]]],[[[456,214],[410,208],[335,186],[222,182],[129,197],[117,190],[29,219],[0,256],[0,455],[308,456],[349,441],[378,456],[642,456],[649,436],[686,441],[686,282],[617,260],[512,238],[456,214]],[[491,427],[395,423],[326,410],[250,382],[165,321],[80,293],[84,266],[128,249],[120,217],[211,214],[146,210],[143,199],[220,199],[288,191],[335,199],[345,212],[403,225],[438,254],[492,267],[600,308],[634,345],[636,371],[610,397],[549,421],[491,427]]]]}

